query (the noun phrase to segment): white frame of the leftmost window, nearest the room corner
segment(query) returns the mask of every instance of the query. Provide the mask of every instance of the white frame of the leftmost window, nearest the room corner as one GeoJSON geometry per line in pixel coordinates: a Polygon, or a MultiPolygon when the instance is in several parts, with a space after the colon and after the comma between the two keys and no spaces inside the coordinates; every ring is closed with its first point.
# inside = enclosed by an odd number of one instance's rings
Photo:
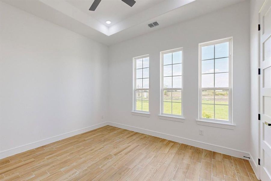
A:
{"type": "MultiPolygon", "coordinates": [[[[138,115],[138,116],[146,116],[146,117],[149,117],[149,111],[139,111],[139,110],[136,110],[136,91],[137,90],[149,90],[149,88],[136,88],[136,84],[137,84],[137,59],[143,59],[143,58],[147,58],[149,57],[149,55],[143,55],[143,56],[137,56],[137,57],[134,57],[133,58],[133,110],[132,110],[132,114],[134,115],[138,115]],[[140,113],[140,114],[137,114],[137,113],[140,113]],[[144,115],[142,115],[144,114],[144,115]]],[[[149,74],[150,75],[150,74],[149,74]]],[[[150,80],[150,78],[149,78],[150,80]]],[[[149,84],[149,87],[150,87],[150,84],[149,84]]]]}

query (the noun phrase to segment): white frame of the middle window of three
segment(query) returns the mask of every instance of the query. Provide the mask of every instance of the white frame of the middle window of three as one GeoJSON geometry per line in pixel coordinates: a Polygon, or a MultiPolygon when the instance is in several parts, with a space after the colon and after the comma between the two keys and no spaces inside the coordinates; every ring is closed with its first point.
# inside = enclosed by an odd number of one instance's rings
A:
{"type": "MultiPolygon", "coordinates": [[[[183,47],[181,48],[176,48],[176,49],[171,49],[171,50],[166,50],[166,51],[162,51],[160,52],[160,119],[166,119],[163,117],[172,117],[173,119],[169,119],[172,121],[180,121],[178,119],[174,119],[174,118],[181,118],[184,119],[183,116],[183,47]],[[167,53],[174,53],[174,52],[182,52],[182,88],[164,88],[164,54],[167,53]],[[164,90],[181,90],[182,92],[182,97],[181,97],[181,107],[182,107],[182,115],[176,115],[176,114],[165,114],[164,113],[164,90]]],[[[171,108],[172,109],[172,108],[171,108]]],[[[183,121],[180,121],[183,122],[183,121]]]]}

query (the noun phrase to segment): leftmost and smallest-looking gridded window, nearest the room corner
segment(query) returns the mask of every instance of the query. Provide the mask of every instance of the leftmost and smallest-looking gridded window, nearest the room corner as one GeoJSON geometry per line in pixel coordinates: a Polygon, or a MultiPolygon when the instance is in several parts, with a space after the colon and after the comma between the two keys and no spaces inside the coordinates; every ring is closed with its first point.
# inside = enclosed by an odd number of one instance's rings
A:
{"type": "Polygon", "coordinates": [[[149,112],[149,55],[134,58],[134,111],[149,112]]]}

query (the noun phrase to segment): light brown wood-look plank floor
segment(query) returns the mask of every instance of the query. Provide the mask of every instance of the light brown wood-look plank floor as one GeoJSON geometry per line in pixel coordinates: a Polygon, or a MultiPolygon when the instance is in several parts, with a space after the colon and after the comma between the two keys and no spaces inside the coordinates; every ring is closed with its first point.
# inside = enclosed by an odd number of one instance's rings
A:
{"type": "Polygon", "coordinates": [[[113,126],[0,160],[0,180],[255,181],[248,160],[113,126]]]}

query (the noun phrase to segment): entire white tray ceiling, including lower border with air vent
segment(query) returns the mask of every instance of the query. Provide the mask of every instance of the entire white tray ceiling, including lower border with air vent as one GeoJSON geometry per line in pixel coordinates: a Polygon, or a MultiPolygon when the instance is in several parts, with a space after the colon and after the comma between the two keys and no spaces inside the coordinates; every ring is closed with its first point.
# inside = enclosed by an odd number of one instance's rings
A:
{"type": "Polygon", "coordinates": [[[2,0],[54,24],[105,45],[149,33],[244,0],[135,0],[133,7],[121,0],[2,0]],[[105,21],[111,21],[107,25],[105,21]],[[157,27],[147,24],[158,21],[157,27]]]}

